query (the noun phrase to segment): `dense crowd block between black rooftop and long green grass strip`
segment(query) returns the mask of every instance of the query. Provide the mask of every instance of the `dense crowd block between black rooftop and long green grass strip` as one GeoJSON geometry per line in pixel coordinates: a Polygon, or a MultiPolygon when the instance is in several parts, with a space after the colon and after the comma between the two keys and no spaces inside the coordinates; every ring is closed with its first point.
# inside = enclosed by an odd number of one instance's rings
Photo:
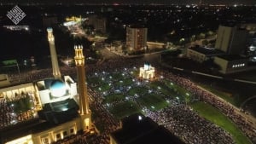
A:
{"type": "Polygon", "coordinates": [[[164,125],[174,135],[180,137],[189,144],[219,143],[233,144],[232,136],[220,127],[201,118],[189,107],[179,103],[172,103],[157,112],[145,111],[148,117],[154,119],[158,124],[164,125]]]}

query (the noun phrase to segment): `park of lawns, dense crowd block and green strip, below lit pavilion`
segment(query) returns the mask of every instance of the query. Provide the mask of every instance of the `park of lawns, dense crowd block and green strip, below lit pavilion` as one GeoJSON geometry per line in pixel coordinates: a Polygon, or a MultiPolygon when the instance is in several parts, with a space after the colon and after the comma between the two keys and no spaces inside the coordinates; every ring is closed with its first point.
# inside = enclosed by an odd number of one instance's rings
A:
{"type": "Polygon", "coordinates": [[[139,77],[138,67],[123,68],[111,72],[94,72],[88,75],[87,83],[102,95],[102,106],[116,119],[141,112],[165,125],[182,139],[187,139],[185,141],[189,143],[196,143],[195,140],[250,143],[230,118],[217,108],[200,101],[199,96],[193,95],[191,90],[160,73],[154,78],[144,79],[139,77]],[[191,124],[195,121],[198,124],[191,124]],[[186,129],[181,129],[182,126],[186,129]],[[217,131],[220,131],[218,135],[217,131]]]}

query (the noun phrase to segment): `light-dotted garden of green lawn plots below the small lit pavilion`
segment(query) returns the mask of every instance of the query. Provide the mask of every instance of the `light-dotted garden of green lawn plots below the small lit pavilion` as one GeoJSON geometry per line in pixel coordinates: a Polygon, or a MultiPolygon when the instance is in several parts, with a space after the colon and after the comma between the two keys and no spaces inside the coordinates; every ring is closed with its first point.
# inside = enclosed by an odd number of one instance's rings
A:
{"type": "Polygon", "coordinates": [[[94,73],[87,79],[90,88],[102,94],[102,104],[115,118],[124,118],[145,109],[157,111],[170,106],[170,101],[185,103],[193,100],[188,90],[163,78],[138,77],[138,68],[123,72],[94,73]]]}

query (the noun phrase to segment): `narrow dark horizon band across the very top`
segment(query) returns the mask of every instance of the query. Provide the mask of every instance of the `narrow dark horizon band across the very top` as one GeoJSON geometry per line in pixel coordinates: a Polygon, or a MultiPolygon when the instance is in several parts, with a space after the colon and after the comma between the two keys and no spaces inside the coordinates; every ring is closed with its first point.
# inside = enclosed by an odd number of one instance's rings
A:
{"type": "MultiPolygon", "coordinates": [[[[198,4],[200,0],[2,0],[3,4],[15,3],[15,4],[26,4],[26,3],[40,3],[40,4],[58,4],[58,3],[84,3],[84,4],[198,4]]],[[[202,4],[256,4],[254,0],[201,0],[202,4]]]]}

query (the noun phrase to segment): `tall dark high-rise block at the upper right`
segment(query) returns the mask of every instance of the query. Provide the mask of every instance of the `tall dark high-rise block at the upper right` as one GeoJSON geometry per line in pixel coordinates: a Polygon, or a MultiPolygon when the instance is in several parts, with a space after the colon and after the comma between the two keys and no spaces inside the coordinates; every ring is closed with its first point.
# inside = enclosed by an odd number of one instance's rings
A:
{"type": "Polygon", "coordinates": [[[247,30],[237,26],[218,26],[215,48],[226,55],[241,55],[246,49],[247,30]]]}

